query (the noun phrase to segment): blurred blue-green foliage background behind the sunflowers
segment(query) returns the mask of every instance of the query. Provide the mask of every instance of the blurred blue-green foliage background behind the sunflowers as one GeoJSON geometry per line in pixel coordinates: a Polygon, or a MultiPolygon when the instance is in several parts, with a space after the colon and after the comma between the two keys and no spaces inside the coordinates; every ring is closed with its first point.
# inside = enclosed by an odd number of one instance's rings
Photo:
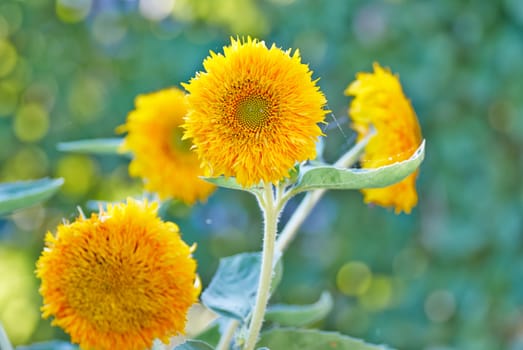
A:
{"type": "MultiPolygon", "coordinates": [[[[113,137],[137,94],[188,81],[237,34],[301,50],[335,116],[327,160],[354,142],[343,90],[374,61],[399,73],[427,139],[413,213],[329,192],[273,300],[309,303],[327,289],[335,308],[317,327],[399,349],[523,349],[521,0],[0,0],[0,181],[66,180],[52,200],[0,218],[12,341],[67,338],[39,315],[44,233],[89,199],[141,191],[126,159],[56,144],[113,137]]],[[[198,242],[204,285],[220,257],[261,246],[245,193],[219,190],[169,218],[198,242]]]]}

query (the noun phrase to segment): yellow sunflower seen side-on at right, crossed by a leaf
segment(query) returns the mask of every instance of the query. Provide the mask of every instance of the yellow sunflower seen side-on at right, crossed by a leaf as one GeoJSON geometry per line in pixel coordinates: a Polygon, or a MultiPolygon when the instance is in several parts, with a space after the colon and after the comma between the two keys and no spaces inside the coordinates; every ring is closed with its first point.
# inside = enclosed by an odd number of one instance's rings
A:
{"type": "MultiPolygon", "coordinates": [[[[397,76],[374,64],[374,73],[359,73],[345,90],[354,96],[349,108],[352,127],[358,138],[364,137],[371,124],[377,131],[365,147],[363,168],[376,168],[408,159],[421,144],[421,130],[416,113],[405,97],[397,76]]],[[[418,201],[416,177],[409,175],[397,184],[364,189],[365,203],[393,207],[396,214],[410,213],[418,201]]]]}

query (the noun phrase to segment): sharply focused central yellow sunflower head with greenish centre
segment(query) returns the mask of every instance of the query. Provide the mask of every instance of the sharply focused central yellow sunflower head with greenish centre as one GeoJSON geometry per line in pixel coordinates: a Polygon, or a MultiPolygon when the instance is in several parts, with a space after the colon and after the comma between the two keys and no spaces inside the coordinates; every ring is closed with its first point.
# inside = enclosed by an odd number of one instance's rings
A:
{"type": "Polygon", "coordinates": [[[231,39],[211,52],[205,72],[184,87],[192,138],[208,176],[235,176],[245,187],[277,183],[296,162],[316,157],[325,97],[296,50],[231,39]]]}

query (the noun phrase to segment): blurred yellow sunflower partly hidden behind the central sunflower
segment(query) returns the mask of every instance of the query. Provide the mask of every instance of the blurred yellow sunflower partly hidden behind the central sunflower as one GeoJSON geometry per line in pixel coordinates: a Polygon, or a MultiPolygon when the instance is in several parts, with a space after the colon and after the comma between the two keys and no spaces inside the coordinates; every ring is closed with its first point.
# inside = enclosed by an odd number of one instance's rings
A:
{"type": "Polygon", "coordinates": [[[175,198],[186,204],[205,200],[214,186],[203,175],[191,143],[182,140],[183,117],[187,113],[185,93],[176,88],[140,95],[136,109],[118,131],[127,131],[121,151],[131,151],[131,176],[145,180],[145,188],[161,199],[175,198]]]}

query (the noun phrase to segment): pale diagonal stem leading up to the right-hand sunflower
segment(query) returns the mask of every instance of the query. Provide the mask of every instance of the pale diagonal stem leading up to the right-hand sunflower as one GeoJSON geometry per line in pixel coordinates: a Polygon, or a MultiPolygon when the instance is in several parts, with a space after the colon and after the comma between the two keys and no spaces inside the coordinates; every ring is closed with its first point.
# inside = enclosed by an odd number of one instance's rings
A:
{"type": "MultiPolygon", "coordinates": [[[[369,143],[369,140],[375,134],[376,131],[374,130],[374,128],[372,128],[360,142],[356,143],[354,147],[352,147],[344,155],[342,155],[340,159],[338,159],[336,163],[334,163],[334,166],[348,168],[352,166],[354,163],[356,163],[361,153],[363,152],[365,146],[367,145],[367,143],[369,143]]],[[[287,224],[278,236],[278,240],[276,241],[276,251],[283,252],[285,249],[287,249],[287,246],[294,239],[294,236],[298,232],[298,229],[300,228],[301,224],[305,221],[305,219],[310,214],[316,203],[318,203],[321,197],[323,197],[325,191],[325,189],[320,189],[307,193],[307,195],[303,198],[300,205],[292,214],[289,221],[287,221],[287,224]]]]}

